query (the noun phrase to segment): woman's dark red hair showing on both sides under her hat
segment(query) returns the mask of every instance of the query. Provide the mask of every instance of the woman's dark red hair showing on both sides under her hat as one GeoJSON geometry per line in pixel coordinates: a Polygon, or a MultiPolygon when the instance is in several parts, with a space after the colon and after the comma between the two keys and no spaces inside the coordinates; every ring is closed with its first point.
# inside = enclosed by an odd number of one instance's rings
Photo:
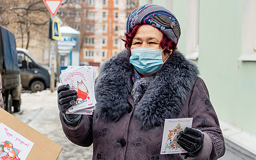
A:
{"type": "MultiPolygon", "coordinates": [[[[133,37],[135,36],[137,30],[139,29],[139,27],[143,26],[145,24],[140,24],[140,25],[137,25],[133,28],[132,32],[131,33],[125,33],[125,39],[122,39],[123,42],[125,42],[125,48],[128,49],[129,51],[131,50],[131,46],[132,46],[132,42],[133,42],[133,37]]],[[[162,33],[162,32],[161,32],[162,33]]],[[[165,37],[164,33],[162,33],[163,35],[163,38],[162,38],[162,41],[160,42],[159,44],[159,47],[161,48],[165,48],[166,46],[171,48],[172,51],[175,51],[177,49],[177,43],[171,41],[171,39],[165,37]]],[[[170,53],[170,51],[165,48],[164,50],[164,53],[170,53]]]]}

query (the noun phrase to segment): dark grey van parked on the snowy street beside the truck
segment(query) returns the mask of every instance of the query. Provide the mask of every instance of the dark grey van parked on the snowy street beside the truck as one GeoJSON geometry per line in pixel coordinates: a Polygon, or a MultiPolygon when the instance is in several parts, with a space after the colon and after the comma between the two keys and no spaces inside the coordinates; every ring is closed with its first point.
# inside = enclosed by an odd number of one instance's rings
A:
{"type": "MultiPolygon", "coordinates": [[[[32,92],[43,91],[50,87],[51,69],[40,64],[27,49],[16,48],[18,52],[18,65],[21,72],[22,88],[32,92]]],[[[56,76],[54,76],[56,86],[56,76]]]]}

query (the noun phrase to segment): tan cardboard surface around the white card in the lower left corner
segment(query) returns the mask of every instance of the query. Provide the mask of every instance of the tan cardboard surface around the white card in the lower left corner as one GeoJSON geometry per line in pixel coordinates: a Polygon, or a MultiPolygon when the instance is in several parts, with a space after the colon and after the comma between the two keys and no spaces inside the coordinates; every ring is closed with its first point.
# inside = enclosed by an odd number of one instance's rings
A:
{"type": "MultiPolygon", "coordinates": [[[[26,160],[57,160],[62,147],[52,140],[45,137],[43,134],[37,132],[35,129],[23,123],[18,118],[0,108],[0,123],[5,124],[16,133],[31,141],[32,149],[27,155],[26,160]]],[[[9,130],[11,130],[9,129],[9,130]]],[[[0,131],[3,132],[3,131],[0,131]]],[[[6,133],[8,133],[7,131],[6,133]]],[[[5,133],[5,134],[6,134],[5,133]]],[[[1,143],[1,142],[0,142],[1,143]]],[[[24,144],[23,145],[28,145],[24,144]]],[[[23,159],[24,160],[24,159],[23,159]]]]}

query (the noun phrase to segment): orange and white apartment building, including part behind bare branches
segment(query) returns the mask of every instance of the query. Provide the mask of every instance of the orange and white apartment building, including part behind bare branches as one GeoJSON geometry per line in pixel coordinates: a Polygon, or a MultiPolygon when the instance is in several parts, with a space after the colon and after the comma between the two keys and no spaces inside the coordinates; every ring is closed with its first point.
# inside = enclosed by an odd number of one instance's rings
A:
{"type": "Polygon", "coordinates": [[[99,65],[124,49],[126,21],[138,5],[138,0],[67,0],[61,6],[63,25],[81,32],[81,64],[99,65]]]}

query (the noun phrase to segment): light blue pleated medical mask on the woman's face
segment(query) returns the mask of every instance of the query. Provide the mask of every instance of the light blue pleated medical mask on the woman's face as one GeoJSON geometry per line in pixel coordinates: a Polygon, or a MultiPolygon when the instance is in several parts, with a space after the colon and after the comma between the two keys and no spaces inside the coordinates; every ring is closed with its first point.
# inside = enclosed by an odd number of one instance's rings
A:
{"type": "MultiPolygon", "coordinates": [[[[163,63],[162,59],[163,50],[152,48],[131,49],[132,56],[130,57],[130,63],[133,64],[134,68],[143,75],[154,74],[165,63],[163,63]]],[[[169,56],[167,59],[168,58],[169,56]]]]}

